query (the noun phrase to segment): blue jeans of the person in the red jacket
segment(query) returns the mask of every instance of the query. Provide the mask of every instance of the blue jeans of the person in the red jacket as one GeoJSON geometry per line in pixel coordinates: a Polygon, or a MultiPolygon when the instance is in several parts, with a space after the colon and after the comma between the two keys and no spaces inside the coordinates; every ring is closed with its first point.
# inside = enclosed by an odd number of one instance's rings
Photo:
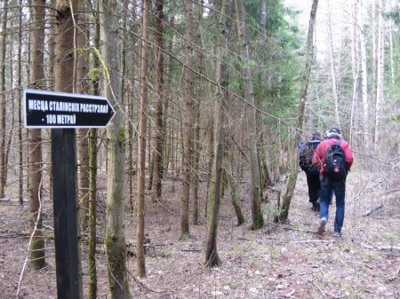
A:
{"type": "Polygon", "coordinates": [[[329,200],[331,199],[332,190],[336,196],[336,216],[334,230],[341,232],[343,226],[344,213],[345,213],[345,195],[346,195],[346,181],[333,182],[327,177],[320,176],[321,180],[321,193],[320,193],[320,208],[319,217],[328,220],[329,216],[329,200]]]}

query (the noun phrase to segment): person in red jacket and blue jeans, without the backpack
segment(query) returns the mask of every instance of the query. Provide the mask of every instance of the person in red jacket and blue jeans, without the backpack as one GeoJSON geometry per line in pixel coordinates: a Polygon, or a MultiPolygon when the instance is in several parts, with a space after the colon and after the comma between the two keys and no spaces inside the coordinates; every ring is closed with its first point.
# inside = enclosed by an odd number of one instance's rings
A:
{"type": "MultiPolygon", "coordinates": [[[[335,142],[341,140],[341,131],[339,128],[332,128],[327,134],[327,139],[321,142],[316,147],[316,153],[313,156],[313,164],[319,169],[319,179],[321,181],[320,191],[320,209],[319,217],[320,224],[318,227],[318,233],[322,234],[325,232],[325,224],[328,221],[329,216],[329,200],[332,194],[332,190],[336,196],[336,216],[334,222],[333,236],[341,236],[341,228],[343,226],[344,214],[345,214],[345,195],[346,195],[346,180],[332,181],[328,177],[324,176],[324,161],[326,151],[329,146],[332,146],[335,142]]],[[[350,150],[348,142],[341,140],[340,147],[343,149],[346,156],[346,163],[348,170],[351,168],[353,163],[353,153],[350,150]]]]}

